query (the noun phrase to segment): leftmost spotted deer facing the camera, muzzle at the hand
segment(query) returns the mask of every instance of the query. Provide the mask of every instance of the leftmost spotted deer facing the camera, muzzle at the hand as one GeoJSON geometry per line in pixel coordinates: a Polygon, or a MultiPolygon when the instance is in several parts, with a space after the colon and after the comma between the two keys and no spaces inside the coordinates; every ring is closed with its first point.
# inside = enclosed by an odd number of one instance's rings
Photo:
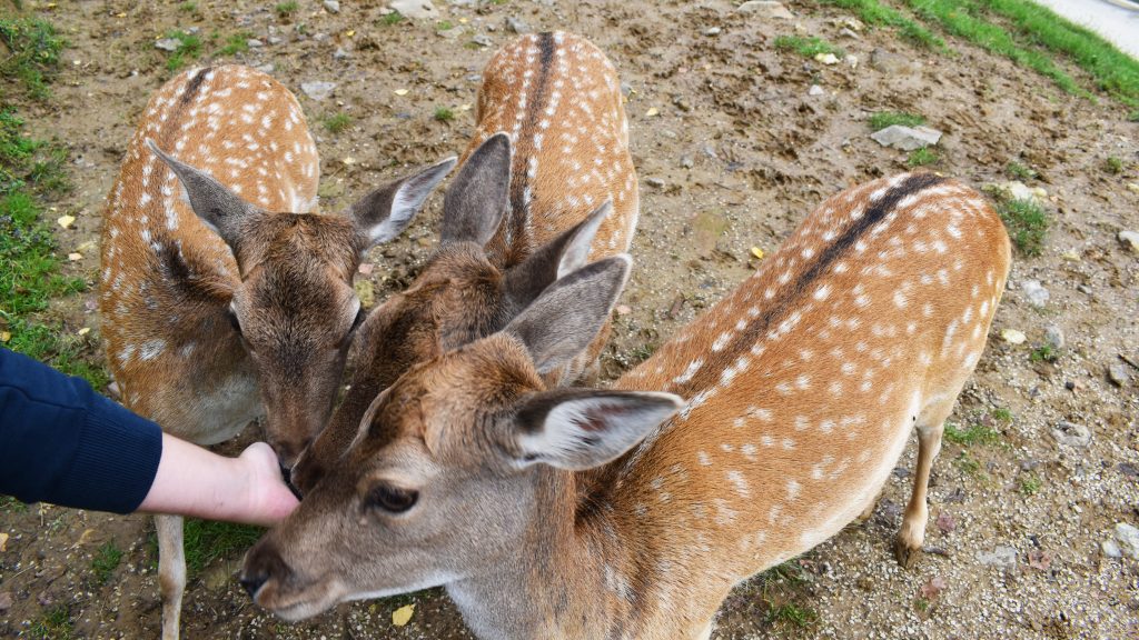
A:
{"type": "MultiPolygon", "coordinates": [[[[331,413],[364,318],[352,288],[361,256],[410,223],[454,162],[321,215],[317,147],[288,89],[238,65],[170,80],[104,212],[103,337],[123,403],[200,445],[264,417],[292,466],[331,413]]],[[[171,640],[186,586],[182,519],[155,522],[171,640]]]]}

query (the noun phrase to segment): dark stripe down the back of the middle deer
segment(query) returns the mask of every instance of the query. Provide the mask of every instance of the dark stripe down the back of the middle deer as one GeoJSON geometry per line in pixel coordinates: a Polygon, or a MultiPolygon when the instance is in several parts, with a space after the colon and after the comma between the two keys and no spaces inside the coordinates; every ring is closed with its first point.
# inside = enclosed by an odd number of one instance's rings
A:
{"type": "Polygon", "coordinates": [[[526,259],[519,254],[519,240],[526,229],[526,220],[530,218],[530,210],[526,206],[526,188],[530,186],[528,163],[534,149],[534,132],[538,131],[538,123],[541,122],[546,112],[546,102],[549,98],[548,84],[550,80],[550,66],[554,64],[555,50],[554,34],[550,32],[538,35],[539,67],[538,80],[532,90],[526,95],[526,124],[518,136],[514,149],[514,164],[510,181],[510,211],[506,223],[509,225],[507,236],[505,266],[513,266],[526,259]]]}

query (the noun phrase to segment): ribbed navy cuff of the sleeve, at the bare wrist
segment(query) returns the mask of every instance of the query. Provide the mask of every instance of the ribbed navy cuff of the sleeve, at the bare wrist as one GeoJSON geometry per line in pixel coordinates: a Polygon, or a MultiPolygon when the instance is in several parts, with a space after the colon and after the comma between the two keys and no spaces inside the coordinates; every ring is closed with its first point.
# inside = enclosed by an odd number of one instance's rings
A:
{"type": "Polygon", "coordinates": [[[75,459],[54,501],[130,514],[150,492],[161,458],[158,425],[96,396],[87,412],[75,459]],[[108,460],[123,462],[110,465],[108,460]]]}

